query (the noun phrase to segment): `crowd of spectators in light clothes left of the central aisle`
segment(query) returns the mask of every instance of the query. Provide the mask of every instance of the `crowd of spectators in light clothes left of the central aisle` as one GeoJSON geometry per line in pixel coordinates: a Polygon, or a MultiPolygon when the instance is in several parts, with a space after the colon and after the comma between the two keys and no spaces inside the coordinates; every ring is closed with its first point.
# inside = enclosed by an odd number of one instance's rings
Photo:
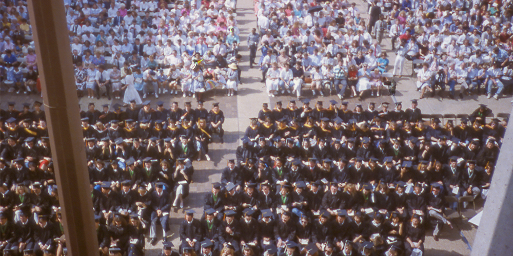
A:
{"type": "MultiPolygon", "coordinates": [[[[141,104],[151,94],[234,95],[242,57],[235,3],[65,1],[78,96],[141,104]]],[[[1,7],[3,83],[9,92],[41,92],[26,3],[1,7]]]]}

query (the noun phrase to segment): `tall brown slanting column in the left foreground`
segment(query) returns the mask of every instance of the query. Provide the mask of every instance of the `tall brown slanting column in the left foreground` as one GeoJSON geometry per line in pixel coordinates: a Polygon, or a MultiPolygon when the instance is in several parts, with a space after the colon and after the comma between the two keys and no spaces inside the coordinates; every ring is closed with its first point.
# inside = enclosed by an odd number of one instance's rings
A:
{"type": "Polygon", "coordinates": [[[97,256],[89,175],[62,0],[29,1],[69,255],[97,256]]]}

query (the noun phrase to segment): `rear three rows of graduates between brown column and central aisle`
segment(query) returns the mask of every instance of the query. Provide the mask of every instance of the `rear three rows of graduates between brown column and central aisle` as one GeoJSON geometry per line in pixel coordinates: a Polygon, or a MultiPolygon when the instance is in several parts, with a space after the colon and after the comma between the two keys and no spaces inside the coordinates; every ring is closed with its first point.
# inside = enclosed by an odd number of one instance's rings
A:
{"type": "Polygon", "coordinates": [[[104,112],[100,113],[91,103],[87,112],[81,112],[84,139],[89,144],[86,146],[88,161],[105,161],[116,157],[133,157],[135,160],[145,157],[166,158],[170,161],[177,157],[191,159],[197,153],[194,137],[203,134],[203,131],[211,135],[214,130],[211,122],[224,121],[219,103],[214,103],[210,112],[203,109],[203,101],[198,102],[199,108],[195,110],[191,108],[190,102],[185,102],[184,110],[177,108],[177,102],[172,103],[171,110],[164,109],[163,104],[162,101],[157,102],[157,109],[153,110],[150,108],[150,102],[146,101],[143,108],[137,109],[135,102],[132,101],[126,111],[121,111],[121,106],[114,104],[114,112],[110,112],[109,106],[104,105],[104,112]],[[94,117],[104,115],[110,118],[98,122],[99,119],[94,117]],[[207,122],[203,131],[198,127],[200,119],[207,122]],[[182,140],[184,136],[186,141],[182,140]],[[97,141],[102,141],[103,145],[95,146],[97,141]],[[181,143],[189,145],[188,152],[181,151],[181,143]],[[106,154],[102,154],[102,147],[109,149],[105,151],[106,154]],[[122,150],[127,147],[128,150],[122,150]],[[172,152],[169,148],[172,148],[172,152]],[[179,152],[174,152],[175,149],[179,152]]]}

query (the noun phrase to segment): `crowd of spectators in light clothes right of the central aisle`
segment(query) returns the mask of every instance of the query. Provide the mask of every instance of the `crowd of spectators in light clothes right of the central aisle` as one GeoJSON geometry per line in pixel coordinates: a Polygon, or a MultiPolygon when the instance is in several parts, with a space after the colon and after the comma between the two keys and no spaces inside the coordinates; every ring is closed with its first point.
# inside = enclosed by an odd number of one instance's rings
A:
{"type": "Polygon", "coordinates": [[[250,62],[261,51],[271,97],[299,98],[307,84],[313,96],[380,96],[383,82],[403,75],[405,60],[420,98],[437,90],[455,98],[457,86],[460,98],[483,93],[481,86],[488,98],[513,93],[511,1],[373,0],[362,9],[349,1],[258,1],[254,9],[260,40],[248,38],[250,62]],[[387,37],[397,55],[391,73],[387,37]]]}

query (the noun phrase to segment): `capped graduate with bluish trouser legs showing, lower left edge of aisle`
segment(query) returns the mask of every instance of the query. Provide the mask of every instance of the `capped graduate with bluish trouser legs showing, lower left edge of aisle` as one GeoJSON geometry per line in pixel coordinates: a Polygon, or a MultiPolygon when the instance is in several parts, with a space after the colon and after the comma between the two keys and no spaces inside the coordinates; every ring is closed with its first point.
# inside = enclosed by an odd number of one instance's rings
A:
{"type": "Polygon", "coordinates": [[[151,244],[157,244],[156,239],[156,225],[160,223],[164,234],[164,242],[166,242],[166,232],[169,230],[167,219],[169,217],[169,210],[171,209],[170,196],[167,191],[164,191],[164,183],[158,182],[155,184],[155,190],[151,193],[151,226],[150,234],[151,244]]]}

